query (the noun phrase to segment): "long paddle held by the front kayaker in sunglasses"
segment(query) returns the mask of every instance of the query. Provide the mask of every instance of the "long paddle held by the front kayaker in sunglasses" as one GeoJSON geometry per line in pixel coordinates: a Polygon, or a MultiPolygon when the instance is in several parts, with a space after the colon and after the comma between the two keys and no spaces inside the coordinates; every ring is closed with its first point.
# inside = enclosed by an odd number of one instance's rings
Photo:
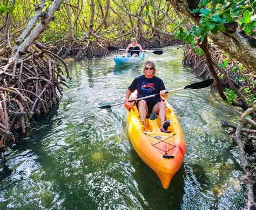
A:
{"type": "MultiPolygon", "coordinates": [[[[173,93],[173,92],[176,92],[176,91],[179,91],[179,90],[184,90],[184,89],[200,89],[200,88],[205,88],[205,87],[211,86],[213,82],[214,82],[213,79],[208,79],[208,80],[204,80],[204,81],[201,81],[201,82],[193,83],[191,85],[187,85],[187,86],[185,86],[183,88],[169,90],[169,91],[166,91],[165,93],[173,93]]],[[[129,102],[140,101],[140,100],[143,100],[143,99],[149,99],[150,97],[156,97],[157,95],[160,95],[160,93],[157,93],[157,94],[154,94],[154,95],[145,96],[145,97],[140,97],[138,99],[129,100],[129,102]]],[[[118,105],[121,105],[121,104],[124,104],[124,102],[116,103],[116,104],[112,104],[112,105],[106,105],[106,106],[102,106],[102,107],[99,107],[99,108],[100,109],[111,108],[111,107],[118,106],[118,105]]]]}

